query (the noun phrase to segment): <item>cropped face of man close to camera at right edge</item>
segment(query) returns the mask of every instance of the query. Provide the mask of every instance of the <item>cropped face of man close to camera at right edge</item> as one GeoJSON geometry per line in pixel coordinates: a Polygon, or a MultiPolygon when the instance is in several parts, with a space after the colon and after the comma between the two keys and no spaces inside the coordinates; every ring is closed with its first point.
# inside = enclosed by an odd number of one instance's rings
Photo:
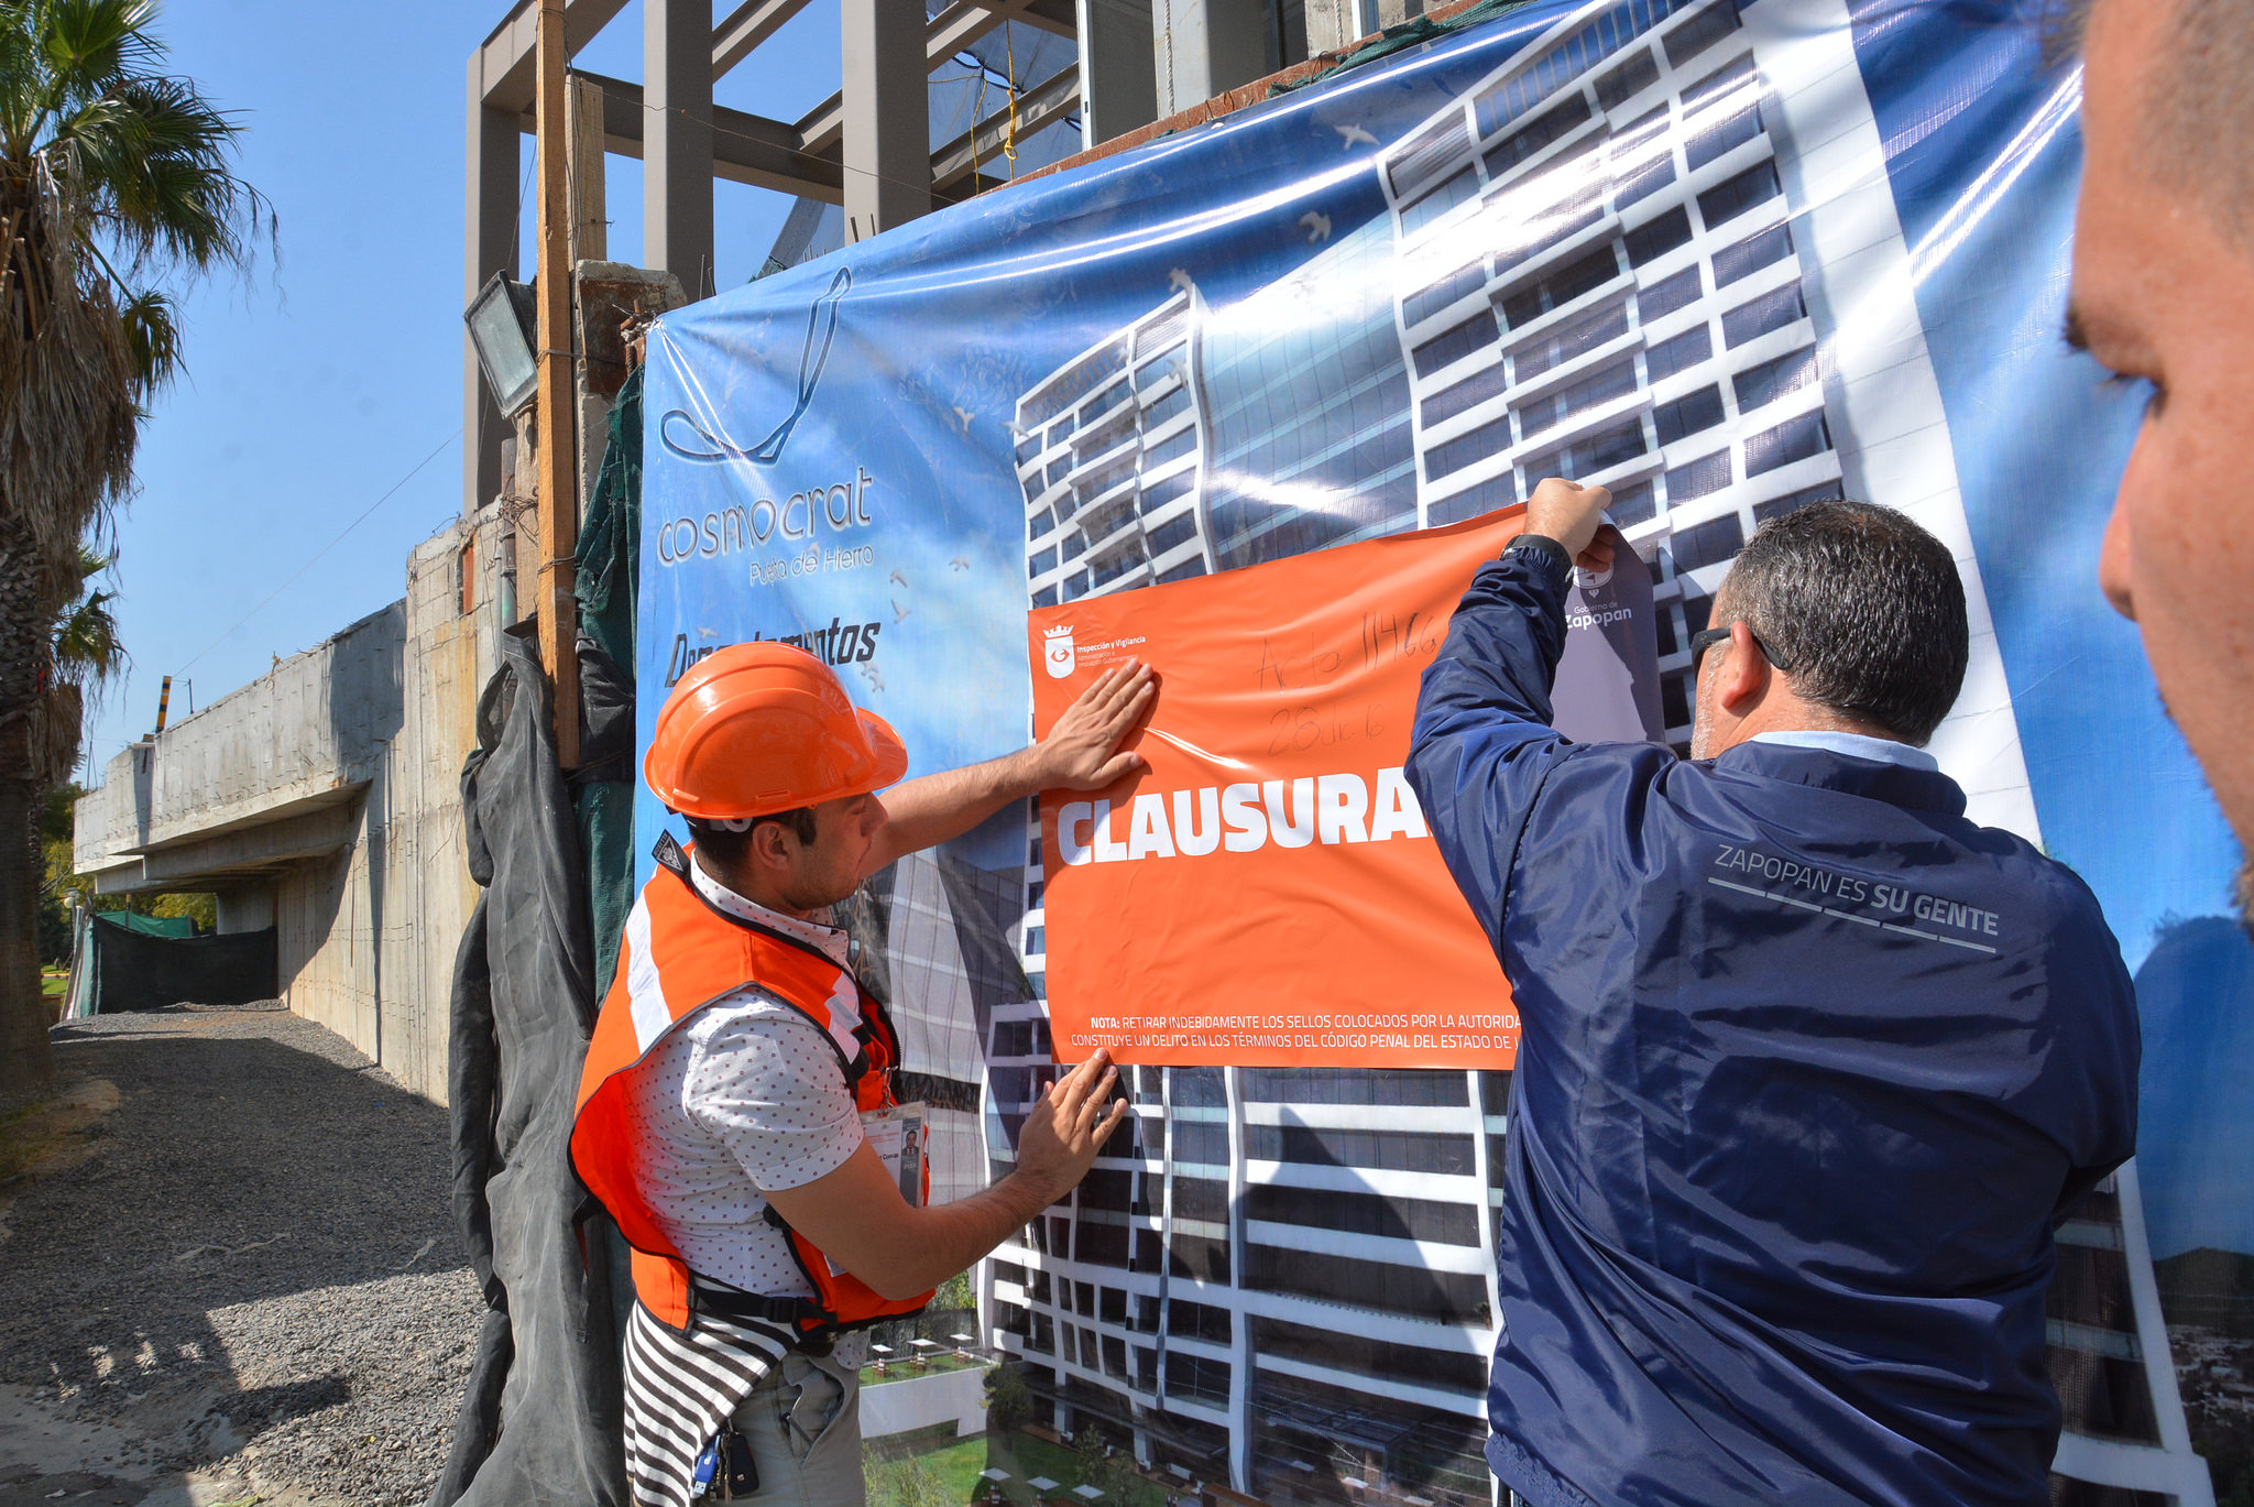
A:
{"type": "Polygon", "coordinates": [[[2067,338],[2148,388],[2098,580],[2254,841],[2254,5],[2087,11],[2067,338]]]}

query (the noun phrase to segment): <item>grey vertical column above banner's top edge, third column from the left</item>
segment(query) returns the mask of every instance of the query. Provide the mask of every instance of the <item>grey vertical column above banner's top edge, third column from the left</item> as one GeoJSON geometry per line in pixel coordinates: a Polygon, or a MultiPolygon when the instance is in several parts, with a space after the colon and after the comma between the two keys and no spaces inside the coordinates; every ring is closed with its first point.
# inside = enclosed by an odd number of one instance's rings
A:
{"type": "Polygon", "coordinates": [[[931,214],[931,68],[917,0],[841,0],[838,23],[850,244],[931,214]]]}

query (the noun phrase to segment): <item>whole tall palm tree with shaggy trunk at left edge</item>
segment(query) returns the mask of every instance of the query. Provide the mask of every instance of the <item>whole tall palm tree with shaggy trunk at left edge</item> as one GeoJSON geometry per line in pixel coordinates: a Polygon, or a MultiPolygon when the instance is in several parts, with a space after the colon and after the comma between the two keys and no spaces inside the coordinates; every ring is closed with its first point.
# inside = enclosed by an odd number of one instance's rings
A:
{"type": "Polygon", "coordinates": [[[36,817],[79,733],[52,629],[178,370],[176,291],[273,237],[241,126],[162,72],[153,20],[156,0],[0,0],[0,1092],[52,1076],[36,817]]]}

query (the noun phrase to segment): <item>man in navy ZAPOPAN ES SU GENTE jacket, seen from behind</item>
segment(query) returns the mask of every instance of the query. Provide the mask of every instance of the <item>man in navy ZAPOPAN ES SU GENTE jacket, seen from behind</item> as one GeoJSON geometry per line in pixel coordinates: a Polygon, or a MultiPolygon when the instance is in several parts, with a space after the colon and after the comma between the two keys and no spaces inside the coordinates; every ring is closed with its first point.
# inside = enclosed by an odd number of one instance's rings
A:
{"type": "Polygon", "coordinates": [[[1785,514],[1693,638],[1693,758],[1571,744],[1607,501],[1542,483],[1409,756],[1521,1022],[1488,1457],[1537,1507],[2042,1507],[2051,1230],[2135,1148],[2137,1013],[2087,887],[1920,751],[1956,566],[1785,514]]]}

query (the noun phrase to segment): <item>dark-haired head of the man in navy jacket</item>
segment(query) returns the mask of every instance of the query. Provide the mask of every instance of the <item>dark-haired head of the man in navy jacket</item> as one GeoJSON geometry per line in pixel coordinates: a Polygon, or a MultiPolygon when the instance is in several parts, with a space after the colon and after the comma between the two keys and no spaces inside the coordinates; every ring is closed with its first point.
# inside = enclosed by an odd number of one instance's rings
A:
{"type": "Polygon", "coordinates": [[[1808,503],[1763,523],[1693,638],[1690,756],[1823,729],[1925,747],[1968,656],[1956,562],[1891,508],[1808,503]]]}

